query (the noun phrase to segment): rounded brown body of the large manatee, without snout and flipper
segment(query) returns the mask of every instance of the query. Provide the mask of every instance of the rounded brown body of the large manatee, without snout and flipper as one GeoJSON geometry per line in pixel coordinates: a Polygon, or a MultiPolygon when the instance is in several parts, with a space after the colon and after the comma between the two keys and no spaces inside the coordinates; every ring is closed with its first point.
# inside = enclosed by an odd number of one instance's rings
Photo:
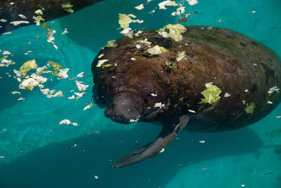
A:
{"type": "Polygon", "coordinates": [[[187,129],[201,132],[250,125],[280,103],[279,93],[268,93],[270,88],[281,88],[281,62],[268,47],[228,29],[186,28],[188,32],[179,42],[148,30],[138,37],[117,39],[117,47],[105,47],[100,54],[112,66],[97,68],[98,54],[92,66],[94,90],[106,96],[108,91],[124,87],[138,89],[139,95],[147,94],[141,120],[188,113],[192,118],[187,129]],[[150,45],[140,42],[146,39],[150,45]],[[141,48],[136,48],[136,44],[141,48]],[[148,49],[156,45],[168,51],[149,54],[148,49]],[[177,60],[183,51],[185,57],[177,60]],[[201,104],[208,82],[221,90],[221,98],[214,104],[201,104]],[[150,96],[154,91],[158,95],[150,96]],[[230,96],[224,97],[226,93],[230,96]],[[156,109],[154,105],[159,101],[165,106],[156,109]]]}

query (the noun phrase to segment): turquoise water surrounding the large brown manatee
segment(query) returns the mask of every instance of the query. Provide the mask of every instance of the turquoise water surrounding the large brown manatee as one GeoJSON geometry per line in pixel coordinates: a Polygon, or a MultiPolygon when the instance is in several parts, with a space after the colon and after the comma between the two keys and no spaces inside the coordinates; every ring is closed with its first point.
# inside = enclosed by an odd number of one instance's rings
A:
{"type": "MultiPolygon", "coordinates": [[[[113,123],[95,105],[84,111],[93,102],[91,62],[108,40],[122,37],[116,30],[119,13],[133,13],[145,20],[135,27],[156,29],[176,23],[170,16],[174,7],[148,13],[159,2],[147,5],[146,1],[105,0],[54,23],[50,21],[56,30],[57,51],[35,25],[0,36],[0,49],[10,51],[13,56],[9,58],[16,62],[8,68],[0,67],[0,187],[281,187],[281,155],[274,147],[281,144],[281,118],[276,118],[281,115],[281,106],[240,130],[181,132],[158,156],[126,168],[110,168],[117,158],[150,142],[161,127],[113,123]],[[136,10],[134,7],[141,3],[145,9],[136,10]],[[65,28],[69,33],[60,35],[65,28]],[[37,35],[39,39],[34,38],[37,35]],[[25,55],[27,51],[32,52],[25,55]],[[70,78],[83,71],[79,81],[89,84],[84,96],[77,101],[67,99],[72,90],[78,92],[75,80],[54,76],[48,77],[45,88],[62,90],[65,97],[48,99],[39,88],[18,89],[13,69],[33,58],[40,67],[54,61],[70,68],[70,78]],[[13,91],[21,96],[11,94],[13,91]],[[26,100],[18,101],[19,97],[26,100]],[[59,125],[63,119],[79,126],[59,125]]],[[[281,1],[183,3],[187,13],[198,12],[188,17],[188,25],[242,32],[281,57],[281,1]]]]}

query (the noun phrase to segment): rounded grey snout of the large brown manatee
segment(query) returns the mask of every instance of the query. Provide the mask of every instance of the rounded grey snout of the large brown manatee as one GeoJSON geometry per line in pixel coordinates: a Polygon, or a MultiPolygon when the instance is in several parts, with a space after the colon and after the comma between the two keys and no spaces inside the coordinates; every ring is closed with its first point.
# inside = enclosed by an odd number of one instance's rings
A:
{"type": "Polygon", "coordinates": [[[138,120],[141,115],[133,96],[119,94],[112,99],[112,104],[105,110],[105,116],[117,123],[129,124],[138,120]]]}

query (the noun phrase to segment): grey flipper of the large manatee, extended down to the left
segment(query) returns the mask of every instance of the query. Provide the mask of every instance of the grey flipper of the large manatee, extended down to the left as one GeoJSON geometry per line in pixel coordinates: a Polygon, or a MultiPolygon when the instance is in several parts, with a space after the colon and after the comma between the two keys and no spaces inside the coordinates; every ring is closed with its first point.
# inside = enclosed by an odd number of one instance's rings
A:
{"type": "Polygon", "coordinates": [[[162,131],[158,137],[149,144],[146,144],[141,149],[133,151],[128,156],[124,156],[116,161],[112,168],[120,168],[133,163],[138,163],[152,156],[156,156],[162,149],[168,146],[174,138],[181,132],[188,124],[190,117],[188,115],[182,115],[178,118],[172,118],[170,120],[164,120],[162,131]]]}

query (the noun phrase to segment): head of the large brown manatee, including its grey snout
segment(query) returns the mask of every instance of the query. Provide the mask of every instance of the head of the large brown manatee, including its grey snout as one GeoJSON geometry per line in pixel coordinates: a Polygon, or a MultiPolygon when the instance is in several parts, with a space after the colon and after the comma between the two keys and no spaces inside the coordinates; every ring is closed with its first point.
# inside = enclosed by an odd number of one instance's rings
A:
{"type": "MultiPolygon", "coordinates": [[[[115,68],[115,69],[118,69],[115,68]]],[[[165,108],[155,104],[165,101],[165,91],[145,75],[147,70],[127,70],[112,74],[109,68],[94,68],[93,97],[98,106],[106,108],[105,116],[117,123],[158,120],[165,108]]]]}

